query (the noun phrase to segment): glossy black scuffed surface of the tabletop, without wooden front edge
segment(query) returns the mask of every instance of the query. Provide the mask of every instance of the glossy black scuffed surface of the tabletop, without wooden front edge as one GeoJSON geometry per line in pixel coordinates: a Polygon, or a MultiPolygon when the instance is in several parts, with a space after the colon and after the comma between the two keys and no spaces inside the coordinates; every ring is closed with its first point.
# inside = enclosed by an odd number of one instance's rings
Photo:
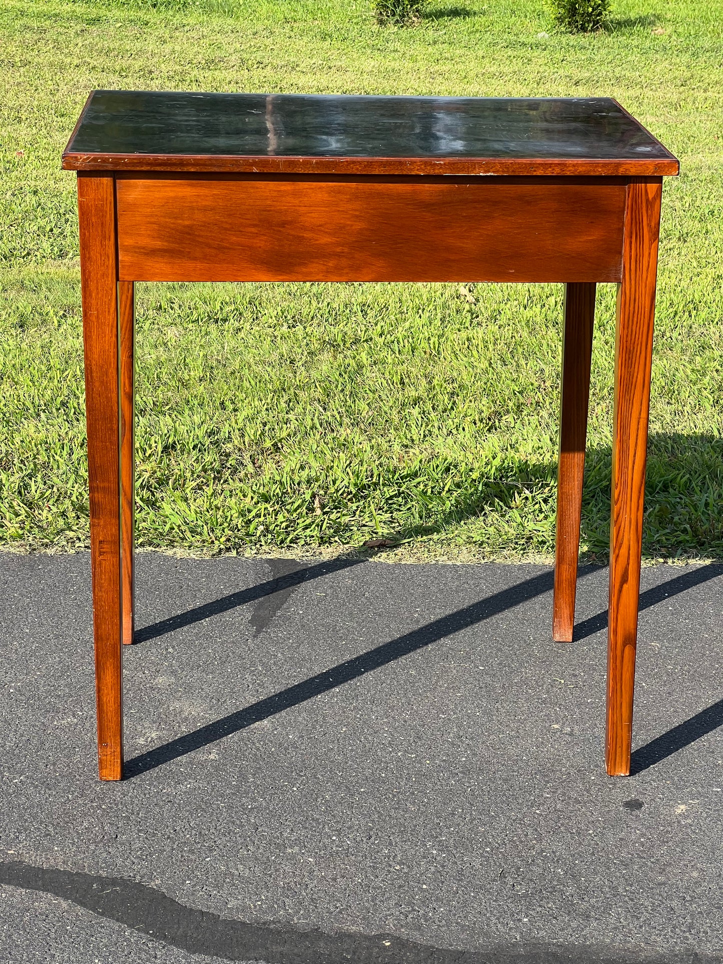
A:
{"type": "Polygon", "coordinates": [[[95,91],[68,151],[304,157],[656,159],[611,99],[95,91]]]}

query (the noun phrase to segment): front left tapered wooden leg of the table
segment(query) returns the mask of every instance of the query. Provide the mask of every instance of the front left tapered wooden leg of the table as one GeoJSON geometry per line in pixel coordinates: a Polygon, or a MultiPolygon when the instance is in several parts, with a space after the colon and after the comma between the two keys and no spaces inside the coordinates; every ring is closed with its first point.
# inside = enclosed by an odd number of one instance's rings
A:
{"type": "Polygon", "coordinates": [[[113,174],[78,174],[91,496],[95,711],[101,780],[122,775],[120,391],[113,174]]]}

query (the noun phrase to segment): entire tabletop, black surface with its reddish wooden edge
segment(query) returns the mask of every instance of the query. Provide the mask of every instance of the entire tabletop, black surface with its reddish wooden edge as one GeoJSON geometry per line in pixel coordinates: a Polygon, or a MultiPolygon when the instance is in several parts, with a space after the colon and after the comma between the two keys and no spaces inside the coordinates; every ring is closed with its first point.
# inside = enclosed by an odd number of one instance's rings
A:
{"type": "Polygon", "coordinates": [[[76,171],[659,176],[679,164],[609,97],[94,91],[76,171]]]}

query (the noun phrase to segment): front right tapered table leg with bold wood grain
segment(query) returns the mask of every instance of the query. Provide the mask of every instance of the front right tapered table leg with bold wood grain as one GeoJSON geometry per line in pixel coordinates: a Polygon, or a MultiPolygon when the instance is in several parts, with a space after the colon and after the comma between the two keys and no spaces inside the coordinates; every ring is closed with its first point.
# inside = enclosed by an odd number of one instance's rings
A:
{"type": "Polygon", "coordinates": [[[611,776],[630,772],[661,188],[660,178],[629,183],[618,285],[605,734],[611,776]]]}

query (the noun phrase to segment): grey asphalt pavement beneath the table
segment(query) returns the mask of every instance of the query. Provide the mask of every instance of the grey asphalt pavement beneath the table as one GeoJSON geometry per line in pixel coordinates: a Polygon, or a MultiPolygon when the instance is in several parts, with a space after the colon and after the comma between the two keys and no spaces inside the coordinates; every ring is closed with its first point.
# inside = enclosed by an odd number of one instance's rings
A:
{"type": "Polygon", "coordinates": [[[723,961],[723,565],[643,570],[627,779],[606,579],[139,553],[101,784],[89,556],[0,554],[0,962],[723,961]]]}

